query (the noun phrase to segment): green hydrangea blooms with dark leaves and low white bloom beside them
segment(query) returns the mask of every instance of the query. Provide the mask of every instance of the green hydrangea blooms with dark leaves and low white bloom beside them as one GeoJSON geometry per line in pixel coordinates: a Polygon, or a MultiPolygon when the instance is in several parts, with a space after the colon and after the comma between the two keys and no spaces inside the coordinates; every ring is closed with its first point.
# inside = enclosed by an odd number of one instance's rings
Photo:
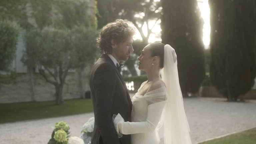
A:
{"type": "Polygon", "coordinates": [[[83,139],[69,136],[70,127],[66,122],[55,123],[55,129],[52,132],[52,138],[48,144],[84,144],[83,139]]]}

